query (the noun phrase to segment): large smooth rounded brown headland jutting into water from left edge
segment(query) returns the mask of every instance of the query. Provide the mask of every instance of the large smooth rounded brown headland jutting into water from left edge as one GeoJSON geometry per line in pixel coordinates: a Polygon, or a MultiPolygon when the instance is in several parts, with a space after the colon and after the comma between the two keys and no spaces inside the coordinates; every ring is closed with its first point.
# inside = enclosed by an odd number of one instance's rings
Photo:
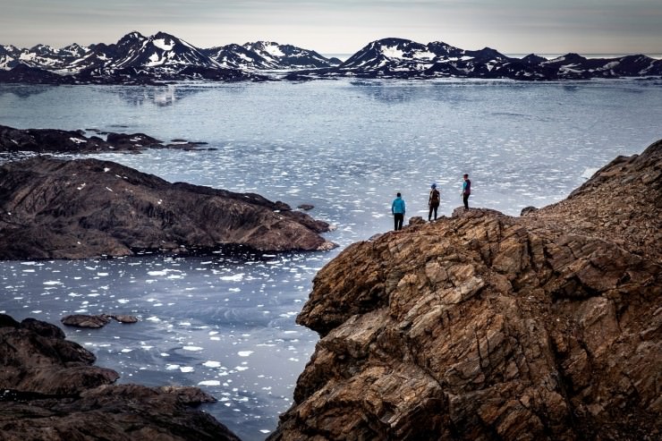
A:
{"type": "Polygon", "coordinates": [[[97,159],[0,166],[0,259],[81,259],[140,251],[327,250],[328,224],[282,202],[97,159]]]}

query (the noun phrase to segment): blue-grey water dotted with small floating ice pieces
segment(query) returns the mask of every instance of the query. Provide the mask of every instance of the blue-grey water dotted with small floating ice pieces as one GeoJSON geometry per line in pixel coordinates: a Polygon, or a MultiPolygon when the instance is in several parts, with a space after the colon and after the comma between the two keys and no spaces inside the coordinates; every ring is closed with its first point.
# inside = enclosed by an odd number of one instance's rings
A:
{"type": "Polygon", "coordinates": [[[0,124],[144,132],[213,150],[98,157],[168,181],[254,191],[337,230],[330,252],[0,262],[0,311],[58,324],[72,313],[123,313],[134,325],[65,329],[119,371],[119,381],[200,386],[205,405],[242,439],[267,437],[292,404],[318,335],[296,314],[312,278],[346,245],[407,217],[461,205],[517,216],[564,199],[618,155],[662,138],[662,81],[311,81],[164,87],[0,85],[0,124]]]}

